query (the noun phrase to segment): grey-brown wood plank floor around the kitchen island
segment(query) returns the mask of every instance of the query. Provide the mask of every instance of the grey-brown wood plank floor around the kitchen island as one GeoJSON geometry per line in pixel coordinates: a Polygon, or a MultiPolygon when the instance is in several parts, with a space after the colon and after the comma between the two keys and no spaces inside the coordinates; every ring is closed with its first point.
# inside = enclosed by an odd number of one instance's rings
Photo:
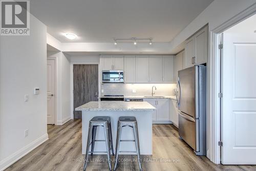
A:
{"type": "MultiPolygon", "coordinates": [[[[48,126],[49,140],[35,148],[6,170],[82,170],[81,120],[70,120],[61,126],[48,126]]],[[[139,170],[138,163],[120,156],[117,170],[139,170]]],[[[106,156],[94,155],[87,170],[109,170],[106,156]]],[[[114,168],[114,164],[113,164],[114,168]]],[[[206,157],[196,156],[178,139],[177,129],[168,124],[153,125],[153,155],[142,156],[143,170],[256,170],[251,165],[217,165],[206,157]],[[162,160],[161,160],[162,159],[162,160]]]]}

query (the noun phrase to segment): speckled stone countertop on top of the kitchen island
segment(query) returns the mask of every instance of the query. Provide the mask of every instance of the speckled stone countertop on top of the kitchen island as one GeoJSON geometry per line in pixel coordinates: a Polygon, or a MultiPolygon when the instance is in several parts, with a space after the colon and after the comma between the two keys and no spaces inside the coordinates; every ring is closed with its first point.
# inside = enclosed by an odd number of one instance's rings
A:
{"type": "Polygon", "coordinates": [[[76,111],[155,111],[146,101],[90,101],[75,109],[76,111]]]}

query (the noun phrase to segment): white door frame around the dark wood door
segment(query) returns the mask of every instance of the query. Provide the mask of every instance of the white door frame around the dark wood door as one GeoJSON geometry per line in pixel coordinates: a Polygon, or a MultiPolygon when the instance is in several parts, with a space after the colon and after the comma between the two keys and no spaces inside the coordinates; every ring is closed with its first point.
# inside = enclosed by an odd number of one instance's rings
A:
{"type": "Polygon", "coordinates": [[[98,95],[100,96],[100,72],[102,71],[101,70],[101,67],[100,67],[100,63],[99,62],[71,62],[70,63],[70,97],[71,97],[71,109],[70,109],[70,118],[71,119],[74,119],[74,73],[73,73],[73,67],[74,65],[98,65],[98,95]]]}

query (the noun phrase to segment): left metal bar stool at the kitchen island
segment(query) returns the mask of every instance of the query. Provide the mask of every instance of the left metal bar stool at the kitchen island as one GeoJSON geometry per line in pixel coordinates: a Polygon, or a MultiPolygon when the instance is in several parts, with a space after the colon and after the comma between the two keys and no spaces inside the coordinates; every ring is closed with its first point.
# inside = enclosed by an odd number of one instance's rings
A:
{"type": "Polygon", "coordinates": [[[92,118],[89,123],[89,131],[88,131],[88,139],[87,139],[87,147],[86,147],[86,160],[84,161],[83,170],[86,170],[89,153],[91,153],[91,155],[93,155],[93,153],[105,153],[106,155],[108,155],[109,167],[111,170],[111,151],[114,156],[110,117],[92,118]],[[103,127],[105,140],[95,139],[98,126],[103,127]],[[94,152],[94,145],[95,145],[95,142],[97,141],[105,141],[106,152],[94,152]],[[90,145],[91,145],[91,151],[89,151],[90,145]]]}

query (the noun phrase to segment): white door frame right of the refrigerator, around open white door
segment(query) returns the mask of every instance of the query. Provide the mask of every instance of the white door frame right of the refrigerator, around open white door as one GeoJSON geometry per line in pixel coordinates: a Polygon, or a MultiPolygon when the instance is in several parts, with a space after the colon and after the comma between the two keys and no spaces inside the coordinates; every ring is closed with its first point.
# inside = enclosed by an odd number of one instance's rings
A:
{"type": "Polygon", "coordinates": [[[246,18],[256,14],[256,3],[245,9],[238,15],[230,18],[227,22],[213,30],[208,35],[208,70],[207,70],[207,157],[214,163],[221,163],[221,147],[218,141],[221,140],[221,98],[218,93],[221,90],[221,53],[218,45],[221,42],[220,34],[230,27],[242,22],[246,18]]]}

